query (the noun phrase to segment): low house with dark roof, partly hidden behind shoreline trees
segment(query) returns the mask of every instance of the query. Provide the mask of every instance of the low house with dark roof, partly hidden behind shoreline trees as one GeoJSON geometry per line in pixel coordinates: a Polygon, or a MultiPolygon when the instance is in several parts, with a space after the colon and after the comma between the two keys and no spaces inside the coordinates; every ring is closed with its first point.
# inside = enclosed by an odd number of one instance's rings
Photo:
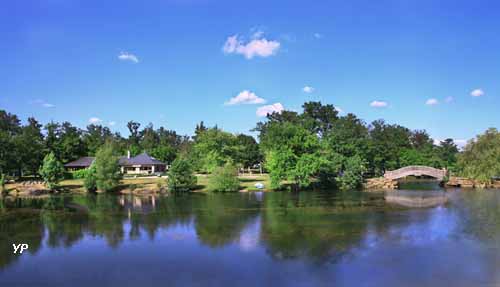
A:
{"type": "MultiPolygon", "coordinates": [[[[95,158],[86,156],[64,165],[68,171],[76,171],[89,168],[95,158]]],[[[146,152],[138,156],[130,157],[130,152],[127,156],[122,156],[118,160],[121,172],[123,174],[153,174],[156,172],[164,172],[167,170],[167,164],[150,156],[146,152]]]]}

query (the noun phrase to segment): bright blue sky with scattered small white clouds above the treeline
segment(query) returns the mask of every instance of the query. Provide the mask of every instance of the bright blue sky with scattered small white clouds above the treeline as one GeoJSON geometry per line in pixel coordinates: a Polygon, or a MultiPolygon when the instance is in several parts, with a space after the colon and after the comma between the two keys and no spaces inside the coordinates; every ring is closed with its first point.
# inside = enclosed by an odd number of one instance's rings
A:
{"type": "Polygon", "coordinates": [[[495,1],[143,2],[2,2],[0,109],[123,135],[246,133],[309,100],[436,139],[500,125],[495,1]]]}

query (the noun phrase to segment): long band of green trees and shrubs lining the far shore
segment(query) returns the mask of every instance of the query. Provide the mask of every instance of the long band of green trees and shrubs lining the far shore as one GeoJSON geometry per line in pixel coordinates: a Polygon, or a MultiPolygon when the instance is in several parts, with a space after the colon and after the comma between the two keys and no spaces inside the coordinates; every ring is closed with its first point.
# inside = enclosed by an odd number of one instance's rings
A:
{"type": "MultiPolygon", "coordinates": [[[[227,165],[233,165],[240,175],[249,169],[268,173],[266,189],[356,189],[364,178],[407,165],[446,168],[455,175],[482,181],[500,174],[496,129],[478,136],[460,152],[452,139],[436,143],[425,130],[410,130],[384,120],[365,123],[354,114],[340,115],[333,105],[320,102],[304,103],[301,112],[268,114],[252,130],[258,141],[250,135],[207,127],[204,122],[196,125],[193,136],[165,127],[155,129],[152,124],[141,129],[135,121],[128,122],[127,129],[129,135],[123,137],[100,124],[85,129],[69,122],[42,126],[28,118],[23,125],[16,115],[0,110],[0,174],[8,180],[42,176],[54,187],[59,175],[44,171],[44,158],[50,157],[48,168],[82,156],[97,156],[90,170],[73,178],[84,178],[89,191],[114,190],[123,181],[118,156],[127,151],[132,156],[146,151],[172,164],[170,182],[164,182],[171,189],[196,189],[199,180],[192,179],[198,173],[205,175],[198,179],[209,182],[214,177],[212,184],[207,182],[213,190],[235,190],[234,176],[231,180],[228,177],[234,171],[226,173],[223,167],[227,165]],[[177,158],[182,160],[176,162],[177,158]],[[178,168],[181,170],[176,171],[178,168]],[[175,182],[176,178],[185,182],[175,182]],[[220,187],[225,183],[231,187],[220,187]]],[[[249,187],[241,179],[239,185],[249,187]]]]}

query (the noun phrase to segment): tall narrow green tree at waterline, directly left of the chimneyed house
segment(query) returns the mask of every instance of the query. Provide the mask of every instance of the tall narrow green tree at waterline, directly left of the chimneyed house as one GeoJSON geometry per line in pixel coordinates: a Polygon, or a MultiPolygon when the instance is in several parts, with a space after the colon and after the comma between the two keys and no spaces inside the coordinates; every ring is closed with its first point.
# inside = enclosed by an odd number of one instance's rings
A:
{"type": "Polygon", "coordinates": [[[118,156],[111,143],[106,143],[96,154],[95,181],[99,191],[111,191],[118,186],[121,179],[118,156]]]}

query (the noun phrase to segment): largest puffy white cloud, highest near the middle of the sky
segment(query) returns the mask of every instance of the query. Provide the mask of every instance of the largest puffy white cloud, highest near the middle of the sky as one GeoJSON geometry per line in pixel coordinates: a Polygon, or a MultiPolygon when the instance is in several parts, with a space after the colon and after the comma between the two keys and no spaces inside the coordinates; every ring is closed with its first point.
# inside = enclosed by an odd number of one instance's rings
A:
{"type": "Polygon", "coordinates": [[[269,57],[275,55],[279,48],[280,43],[274,40],[267,40],[261,38],[263,35],[260,33],[254,33],[253,36],[259,36],[259,38],[253,38],[249,42],[244,42],[242,39],[238,38],[238,35],[228,37],[222,51],[225,54],[240,54],[245,56],[247,59],[252,59],[255,56],[259,57],[269,57]]]}

